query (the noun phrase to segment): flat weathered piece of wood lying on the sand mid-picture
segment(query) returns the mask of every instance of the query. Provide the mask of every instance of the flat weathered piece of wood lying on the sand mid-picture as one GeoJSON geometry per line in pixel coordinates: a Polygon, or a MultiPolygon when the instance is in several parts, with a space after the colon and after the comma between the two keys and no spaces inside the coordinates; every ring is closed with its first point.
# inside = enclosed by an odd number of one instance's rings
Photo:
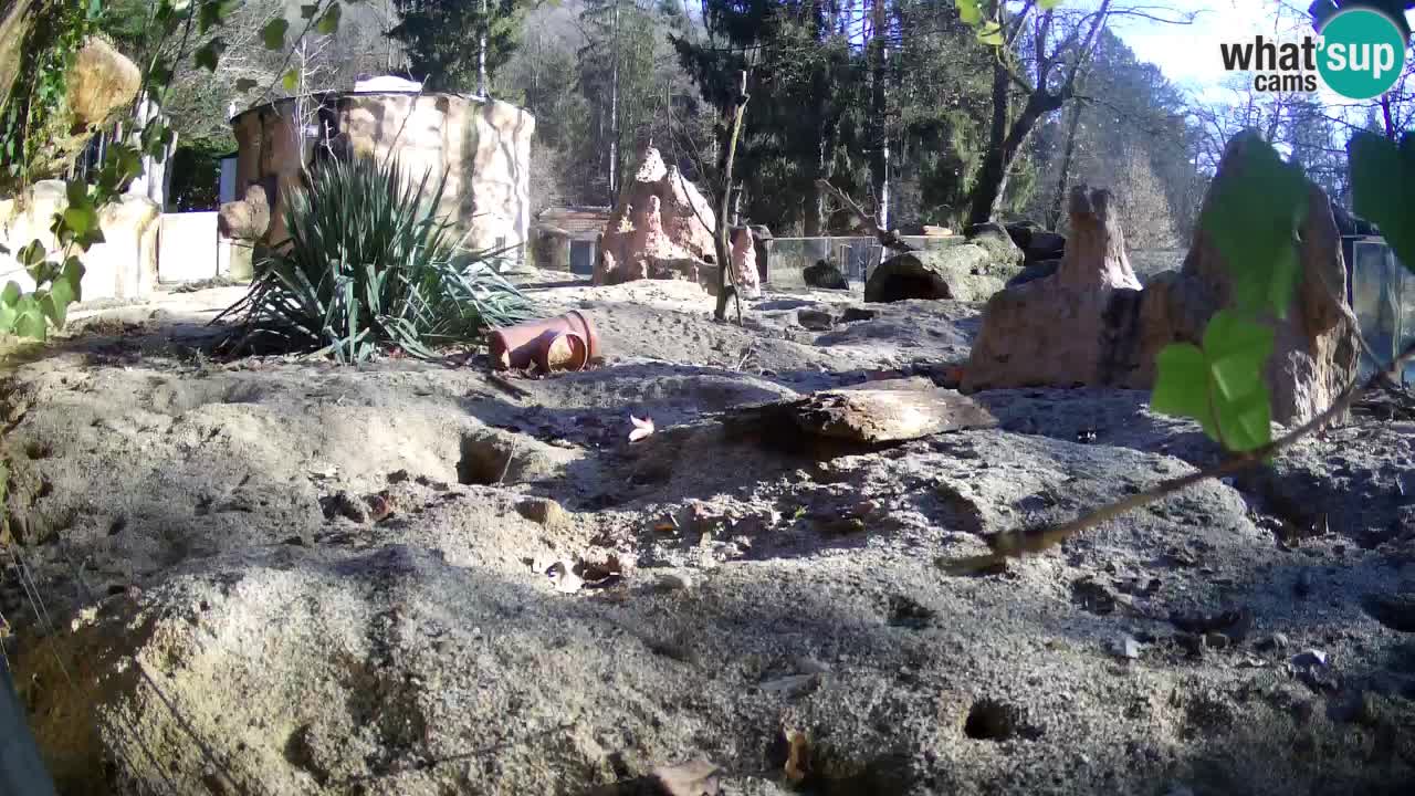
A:
{"type": "Polygon", "coordinates": [[[805,398],[751,406],[729,421],[763,436],[795,431],[862,445],[906,442],[947,431],[995,428],[998,419],[972,398],[927,378],[870,381],[805,398]]]}

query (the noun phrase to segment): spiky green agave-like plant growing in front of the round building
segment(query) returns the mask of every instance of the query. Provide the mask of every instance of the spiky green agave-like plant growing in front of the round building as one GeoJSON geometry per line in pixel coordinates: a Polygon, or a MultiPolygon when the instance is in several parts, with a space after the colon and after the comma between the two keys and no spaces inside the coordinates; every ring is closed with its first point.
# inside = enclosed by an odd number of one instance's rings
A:
{"type": "Polygon", "coordinates": [[[433,358],[487,329],[531,317],[531,302],[468,252],[436,214],[446,174],[402,178],[398,160],[325,160],[290,195],[289,238],[256,262],[236,351],[287,350],[366,361],[382,348],[433,358]]]}

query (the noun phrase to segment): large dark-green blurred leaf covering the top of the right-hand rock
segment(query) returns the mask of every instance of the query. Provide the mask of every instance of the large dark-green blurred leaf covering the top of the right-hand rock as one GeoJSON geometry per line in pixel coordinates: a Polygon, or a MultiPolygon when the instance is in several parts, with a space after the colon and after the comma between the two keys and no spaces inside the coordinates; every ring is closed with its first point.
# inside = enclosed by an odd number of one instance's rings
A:
{"type": "Polygon", "coordinates": [[[1268,142],[1255,140],[1244,152],[1232,173],[1214,183],[1200,225],[1230,268],[1238,309],[1286,317],[1300,275],[1306,177],[1268,142]]]}

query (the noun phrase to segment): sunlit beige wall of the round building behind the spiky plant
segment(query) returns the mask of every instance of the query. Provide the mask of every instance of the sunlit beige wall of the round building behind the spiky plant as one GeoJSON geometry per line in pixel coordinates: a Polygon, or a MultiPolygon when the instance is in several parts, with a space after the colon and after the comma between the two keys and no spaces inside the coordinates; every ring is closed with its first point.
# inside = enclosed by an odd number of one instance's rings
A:
{"type": "MultiPolygon", "coordinates": [[[[291,119],[294,99],[252,108],[231,120],[239,149],[236,194],[262,184],[272,201],[266,242],[284,238],[284,200],[299,186],[301,164],[316,150],[291,119]]],[[[466,235],[466,245],[491,249],[526,242],[531,224],[531,137],[535,118],[505,102],[451,93],[330,93],[317,98],[320,149],[340,156],[395,152],[420,178],[447,171],[439,210],[466,235]]]]}

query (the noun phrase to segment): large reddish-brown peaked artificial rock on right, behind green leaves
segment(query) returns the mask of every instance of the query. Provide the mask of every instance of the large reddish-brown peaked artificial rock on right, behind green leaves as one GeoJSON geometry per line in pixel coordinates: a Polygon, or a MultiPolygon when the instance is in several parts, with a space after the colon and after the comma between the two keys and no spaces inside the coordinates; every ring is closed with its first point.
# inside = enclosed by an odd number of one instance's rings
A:
{"type": "MultiPolygon", "coordinates": [[[[1206,205],[1231,180],[1245,178],[1258,136],[1235,137],[1224,153],[1206,205]]],[[[1344,265],[1330,201],[1307,187],[1300,228],[1300,280],[1276,331],[1265,381],[1272,418],[1302,423],[1332,405],[1356,378],[1356,323],[1343,306],[1344,265]]],[[[1179,272],[1140,289],[1125,259],[1116,208],[1107,191],[1077,188],[1071,229],[1056,273],[1007,288],[988,302],[962,388],[1105,385],[1149,390],[1155,357],[1174,341],[1197,343],[1208,319],[1230,306],[1231,268],[1200,229],[1179,272]]]]}

